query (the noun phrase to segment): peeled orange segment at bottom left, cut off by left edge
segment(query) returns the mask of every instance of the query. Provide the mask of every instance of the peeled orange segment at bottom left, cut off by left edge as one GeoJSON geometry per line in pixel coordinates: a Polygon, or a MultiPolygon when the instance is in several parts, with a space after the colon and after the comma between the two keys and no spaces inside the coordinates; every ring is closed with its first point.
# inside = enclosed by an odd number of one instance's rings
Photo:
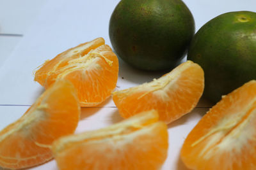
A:
{"type": "Polygon", "coordinates": [[[79,116],[76,89],[67,80],[56,81],[19,120],[0,131],[0,169],[21,169],[52,159],[52,141],[72,134],[79,116]]]}

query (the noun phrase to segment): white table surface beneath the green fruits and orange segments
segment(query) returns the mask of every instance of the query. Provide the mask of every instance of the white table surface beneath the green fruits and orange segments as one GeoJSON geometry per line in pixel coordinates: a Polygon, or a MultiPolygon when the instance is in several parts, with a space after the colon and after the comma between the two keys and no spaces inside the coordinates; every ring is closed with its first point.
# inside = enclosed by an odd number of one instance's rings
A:
{"type": "MultiPolygon", "coordinates": [[[[193,13],[196,30],[221,13],[256,11],[255,0],[184,2],[193,13]]],[[[0,0],[0,129],[17,120],[44,91],[33,81],[32,74],[44,60],[97,37],[103,37],[106,44],[111,45],[108,23],[117,3],[118,0],[0,0]]],[[[120,60],[116,90],[151,81],[161,74],[132,69],[120,60]]],[[[180,147],[210,106],[200,101],[195,110],[168,125],[169,149],[163,170],[186,169],[179,159],[180,147]]],[[[83,108],[76,133],[106,127],[120,120],[122,118],[109,98],[98,107],[83,108]]],[[[31,169],[58,168],[51,160],[31,169]]]]}

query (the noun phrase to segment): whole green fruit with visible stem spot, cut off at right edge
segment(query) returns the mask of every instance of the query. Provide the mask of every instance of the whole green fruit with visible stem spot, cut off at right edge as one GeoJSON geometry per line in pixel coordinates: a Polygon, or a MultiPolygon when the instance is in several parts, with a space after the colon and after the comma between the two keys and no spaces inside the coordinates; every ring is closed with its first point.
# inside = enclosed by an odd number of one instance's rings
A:
{"type": "Polygon", "coordinates": [[[188,59],[204,69],[204,96],[214,103],[255,79],[256,13],[234,11],[207,22],[191,41],[188,59]]]}

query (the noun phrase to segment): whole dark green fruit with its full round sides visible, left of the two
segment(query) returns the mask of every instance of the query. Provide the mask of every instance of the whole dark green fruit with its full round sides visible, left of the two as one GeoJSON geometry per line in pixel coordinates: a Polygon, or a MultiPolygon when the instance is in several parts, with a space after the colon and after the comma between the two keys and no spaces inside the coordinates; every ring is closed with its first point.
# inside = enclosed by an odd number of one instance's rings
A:
{"type": "Polygon", "coordinates": [[[122,0],[109,21],[117,55],[145,70],[175,67],[194,34],[193,15],[180,0],[122,0]]]}

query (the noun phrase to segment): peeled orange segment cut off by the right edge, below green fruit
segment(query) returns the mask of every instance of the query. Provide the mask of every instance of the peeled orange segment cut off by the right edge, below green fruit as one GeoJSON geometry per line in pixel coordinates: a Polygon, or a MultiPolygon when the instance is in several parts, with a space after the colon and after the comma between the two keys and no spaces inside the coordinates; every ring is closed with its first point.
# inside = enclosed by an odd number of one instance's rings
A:
{"type": "Polygon", "coordinates": [[[256,81],[224,96],[189,133],[181,159],[190,169],[256,169],[256,81]]]}

